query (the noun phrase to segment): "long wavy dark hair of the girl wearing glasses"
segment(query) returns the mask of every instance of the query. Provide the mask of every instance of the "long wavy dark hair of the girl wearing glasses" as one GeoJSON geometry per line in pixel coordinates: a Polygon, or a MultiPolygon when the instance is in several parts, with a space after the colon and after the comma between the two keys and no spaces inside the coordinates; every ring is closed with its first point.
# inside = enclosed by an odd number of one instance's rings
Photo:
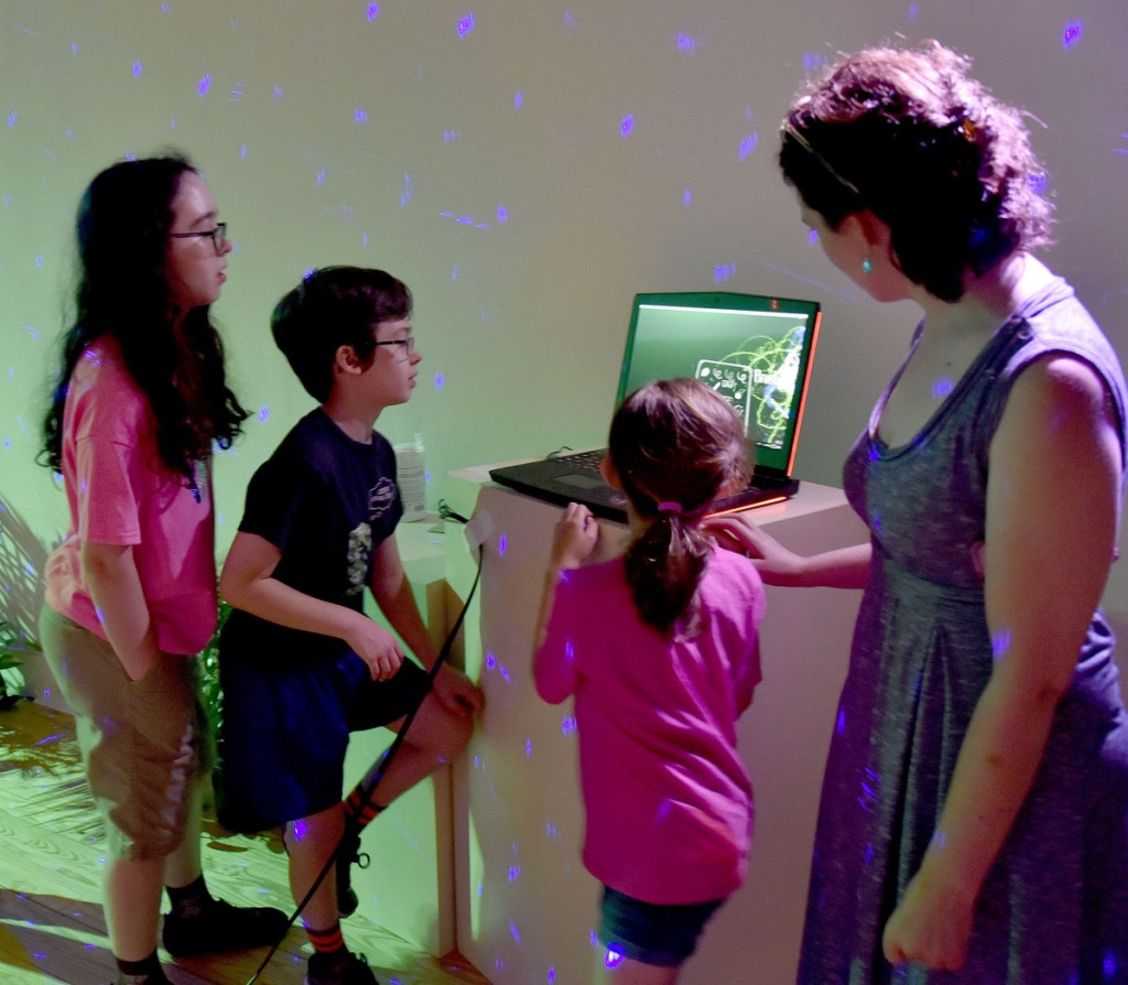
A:
{"type": "Polygon", "coordinates": [[[247,412],[227,386],[223,343],[206,307],[174,331],[166,273],[173,200],[195,169],[178,153],[126,160],[87,187],[74,226],[78,285],[74,318],[63,334],[61,368],[43,422],[39,460],[62,469],[63,407],[82,352],[104,336],[121,348],[125,368],[157,420],[157,451],[191,481],[193,463],[228,448],[247,412]]]}

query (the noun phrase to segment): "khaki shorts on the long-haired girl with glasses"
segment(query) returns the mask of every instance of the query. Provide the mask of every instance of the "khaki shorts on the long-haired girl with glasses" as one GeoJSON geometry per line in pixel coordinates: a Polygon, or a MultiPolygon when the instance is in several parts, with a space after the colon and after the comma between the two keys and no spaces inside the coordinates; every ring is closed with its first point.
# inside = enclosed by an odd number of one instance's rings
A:
{"type": "Polygon", "coordinates": [[[192,788],[214,762],[196,659],[161,654],[130,680],[117,654],[50,606],[43,653],[74,713],[90,792],[115,859],[162,859],[184,839],[192,788]]]}

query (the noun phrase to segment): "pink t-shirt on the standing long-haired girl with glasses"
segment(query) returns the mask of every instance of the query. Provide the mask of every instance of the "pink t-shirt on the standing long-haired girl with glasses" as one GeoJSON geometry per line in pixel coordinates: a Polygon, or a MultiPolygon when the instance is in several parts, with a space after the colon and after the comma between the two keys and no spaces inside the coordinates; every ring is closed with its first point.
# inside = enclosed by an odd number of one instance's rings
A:
{"type": "Polygon", "coordinates": [[[71,519],[47,559],[47,604],[106,639],[82,544],[132,545],[158,645],[197,653],[215,628],[211,477],[201,463],[193,490],[160,460],[149,402],[112,340],[91,344],[71,373],[62,459],[71,519]]]}

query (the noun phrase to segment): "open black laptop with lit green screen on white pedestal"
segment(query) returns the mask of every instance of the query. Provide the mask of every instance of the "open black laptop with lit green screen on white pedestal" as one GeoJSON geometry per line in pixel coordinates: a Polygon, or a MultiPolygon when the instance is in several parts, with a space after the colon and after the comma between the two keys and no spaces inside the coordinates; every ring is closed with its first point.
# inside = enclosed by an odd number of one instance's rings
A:
{"type": "MultiPolygon", "coordinates": [[[[821,309],[816,301],[725,291],[637,294],[615,406],[644,384],[693,377],[721,394],[744,422],[756,468],[748,487],[714,512],[782,502],[792,475],[821,309]]],[[[554,455],[491,469],[502,485],[552,503],[580,502],[626,520],[625,498],[603,482],[606,449],[554,455]]]]}

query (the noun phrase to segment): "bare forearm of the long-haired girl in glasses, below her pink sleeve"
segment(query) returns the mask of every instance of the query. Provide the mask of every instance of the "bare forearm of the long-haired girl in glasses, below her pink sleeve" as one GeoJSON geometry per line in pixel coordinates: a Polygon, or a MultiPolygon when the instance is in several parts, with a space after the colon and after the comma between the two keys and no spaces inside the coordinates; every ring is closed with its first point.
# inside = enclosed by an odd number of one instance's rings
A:
{"type": "Polygon", "coordinates": [[[133,548],[121,544],[83,544],[82,571],[109,645],[130,679],[140,680],[160,656],[160,648],[133,548]]]}

